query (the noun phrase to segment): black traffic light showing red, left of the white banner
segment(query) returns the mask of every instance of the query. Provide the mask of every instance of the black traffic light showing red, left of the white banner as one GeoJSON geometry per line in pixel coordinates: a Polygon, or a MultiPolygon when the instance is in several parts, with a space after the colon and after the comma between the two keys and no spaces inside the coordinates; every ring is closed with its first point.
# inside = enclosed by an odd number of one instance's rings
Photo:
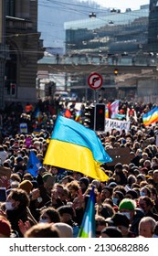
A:
{"type": "Polygon", "coordinates": [[[97,103],[94,115],[94,130],[96,132],[105,131],[105,104],[97,103]]]}

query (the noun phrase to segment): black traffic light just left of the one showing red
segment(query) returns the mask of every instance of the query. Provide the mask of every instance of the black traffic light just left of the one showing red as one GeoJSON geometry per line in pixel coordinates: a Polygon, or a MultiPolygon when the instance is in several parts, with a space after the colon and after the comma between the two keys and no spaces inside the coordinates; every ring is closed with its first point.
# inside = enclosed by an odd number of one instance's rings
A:
{"type": "Polygon", "coordinates": [[[92,130],[94,129],[94,106],[85,107],[83,124],[92,130]]]}

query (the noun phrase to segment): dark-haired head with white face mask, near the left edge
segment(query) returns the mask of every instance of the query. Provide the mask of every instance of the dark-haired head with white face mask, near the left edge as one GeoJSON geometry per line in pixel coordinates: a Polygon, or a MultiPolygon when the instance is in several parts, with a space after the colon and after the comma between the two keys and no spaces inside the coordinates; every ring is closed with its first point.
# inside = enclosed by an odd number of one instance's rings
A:
{"type": "Polygon", "coordinates": [[[25,190],[21,188],[13,188],[5,202],[6,210],[16,210],[17,208],[26,208],[29,206],[30,199],[25,190]]]}

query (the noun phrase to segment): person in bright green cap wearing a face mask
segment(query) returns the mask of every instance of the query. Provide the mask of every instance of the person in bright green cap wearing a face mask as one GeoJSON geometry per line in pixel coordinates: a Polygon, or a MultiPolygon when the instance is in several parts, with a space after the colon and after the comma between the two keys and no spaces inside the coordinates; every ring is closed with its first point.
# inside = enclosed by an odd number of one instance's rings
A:
{"type": "Polygon", "coordinates": [[[119,204],[119,212],[130,220],[130,231],[132,231],[134,236],[138,236],[139,222],[144,217],[144,214],[142,210],[136,208],[135,200],[123,198],[119,204]]]}

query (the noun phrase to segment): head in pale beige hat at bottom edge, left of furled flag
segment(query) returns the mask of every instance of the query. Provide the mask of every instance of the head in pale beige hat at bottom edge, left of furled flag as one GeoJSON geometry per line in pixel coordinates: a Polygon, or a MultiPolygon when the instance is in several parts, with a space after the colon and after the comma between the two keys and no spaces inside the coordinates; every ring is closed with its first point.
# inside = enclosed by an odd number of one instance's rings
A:
{"type": "Polygon", "coordinates": [[[73,229],[67,223],[56,222],[53,226],[58,229],[60,238],[73,238],[73,229]]]}

